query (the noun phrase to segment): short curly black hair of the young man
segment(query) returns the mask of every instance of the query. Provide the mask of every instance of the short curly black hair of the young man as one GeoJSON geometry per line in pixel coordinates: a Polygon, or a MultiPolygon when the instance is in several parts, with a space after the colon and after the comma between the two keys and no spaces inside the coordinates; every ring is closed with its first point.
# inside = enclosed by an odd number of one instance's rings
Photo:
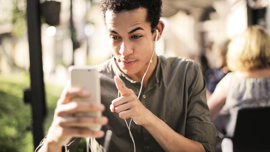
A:
{"type": "Polygon", "coordinates": [[[113,12],[130,11],[139,7],[146,8],[146,22],[151,23],[151,32],[155,32],[158,21],[161,17],[161,0],[101,0],[101,10],[105,22],[105,13],[110,10],[113,12]]]}

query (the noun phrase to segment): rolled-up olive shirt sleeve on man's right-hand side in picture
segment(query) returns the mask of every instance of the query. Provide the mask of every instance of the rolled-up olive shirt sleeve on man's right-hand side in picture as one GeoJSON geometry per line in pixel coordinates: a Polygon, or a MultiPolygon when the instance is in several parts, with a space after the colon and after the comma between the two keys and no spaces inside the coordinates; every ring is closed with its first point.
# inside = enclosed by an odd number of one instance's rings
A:
{"type": "Polygon", "coordinates": [[[200,142],[205,151],[213,151],[217,132],[210,122],[206,100],[206,84],[201,69],[195,62],[187,71],[188,101],[185,137],[200,142]]]}

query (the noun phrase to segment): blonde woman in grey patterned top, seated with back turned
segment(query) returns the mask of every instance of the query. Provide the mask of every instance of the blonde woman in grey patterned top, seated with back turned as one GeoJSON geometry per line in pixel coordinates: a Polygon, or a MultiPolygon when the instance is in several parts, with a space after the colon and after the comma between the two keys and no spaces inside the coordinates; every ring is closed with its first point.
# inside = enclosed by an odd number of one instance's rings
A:
{"type": "MultiPolygon", "coordinates": [[[[208,99],[211,120],[228,114],[225,135],[232,137],[238,110],[270,106],[270,36],[261,26],[250,26],[229,44],[228,73],[208,99]]],[[[224,138],[222,150],[232,151],[232,141],[224,138]]]]}

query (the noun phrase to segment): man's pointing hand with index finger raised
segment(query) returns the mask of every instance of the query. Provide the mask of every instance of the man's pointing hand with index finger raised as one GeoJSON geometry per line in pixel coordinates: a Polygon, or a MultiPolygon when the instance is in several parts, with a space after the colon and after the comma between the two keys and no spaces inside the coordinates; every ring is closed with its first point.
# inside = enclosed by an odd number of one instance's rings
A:
{"type": "Polygon", "coordinates": [[[118,76],[114,77],[114,81],[121,97],[112,101],[110,110],[117,112],[122,119],[132,118],[137,125],[147,125],[152,112],[144,107],[133,90],[122,84],[118,76]]]}

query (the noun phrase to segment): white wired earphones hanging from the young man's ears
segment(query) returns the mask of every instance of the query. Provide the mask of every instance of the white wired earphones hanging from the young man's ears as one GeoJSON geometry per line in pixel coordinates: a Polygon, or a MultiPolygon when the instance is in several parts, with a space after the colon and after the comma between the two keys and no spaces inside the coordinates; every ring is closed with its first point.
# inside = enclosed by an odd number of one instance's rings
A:
{"type": "MultiPolygon", "coordinates": [[[[139,95],[138,95],[138,97],[137,97],[138,99],[139,99],[139,97],[140,97],[140,94],[141,94],[141,91],[142,91],[142,88],[143,88],[143,80],[144,80],[144,77],[146,76],[146,73],[147,73],[147,71],[148,71],[148,69],[149,69],[149,67],[150,67],[150,64],[153,62],[152,58],[153,58],[153,56],[154,56],[154,54],[155,54],[156,42],[157,42],[157,40],[158,40],[158,33],[159,33],[157,29],[156,29],[155,31],[157,32],[157,35],[155,36],[155,46],[154,46],[154,50],[153,50],[152,56],[151,56],[151,58],[150,58],[148,67],[147,67],[147,69],[146,69],[146,72],[144,73],[143,78],[142,78],[141,87],[140,87],[140,92],[139,92],[139,95]]],[[[111,53],[111,57],[113,57],[114,55],[113,55],[112,51],[110,51],[110,53],[111,53]]],[[[114,58],[116,58],[116,57],[114,56],[114,58]]],[[[116,64],[114,64],[114,65],[116,66],[116,64]]],[[[116,68],[118,68],[118,67],[116,66],[116,68]]],[[[117,70],[116,70],[116,74],[119,76],[117,70]]],[[[121,80],[121,78],[120,78],[120,80],[121,80]]],[[[121,80],[121,81],[122,81],[122,80],[121,80]]],[[[120,97],[120,92],[118,91],[118,98],[119,98],[119,97],[120,97]]],[[[134,152],[135,152],[135,151],[136,151],[136,149],[135,149],[135,141],[134,141],[134,138],[133,138],[132,133],[131,133],[131,131],[130,131],[130,125],[131,125],[131,121],[132,121],[132,120],[133,120],[133,119],[131,118],[131,120],[130,120],[130,122],[129,122],[129,125],[128,125],[128,123],[127,123],[126,120],[125,120],[125,123],[126,123],[126,125],[127,125],[127,127],[128,127],[129,135],[130,135],[130,137],[131,137],[131,139],[132,139],[132,142],[133,142],[133,144],[134,144],[134,152]]],[[[91,138],[91,139],[92,139],[92,138],[91,138]]],[[[86,141],[87,141],[87,152],[88,152],[88,148],[91,147],[91,146],[89,145],[90,138],[87,137],[87,140],[86,140],[86,141]]]]}

